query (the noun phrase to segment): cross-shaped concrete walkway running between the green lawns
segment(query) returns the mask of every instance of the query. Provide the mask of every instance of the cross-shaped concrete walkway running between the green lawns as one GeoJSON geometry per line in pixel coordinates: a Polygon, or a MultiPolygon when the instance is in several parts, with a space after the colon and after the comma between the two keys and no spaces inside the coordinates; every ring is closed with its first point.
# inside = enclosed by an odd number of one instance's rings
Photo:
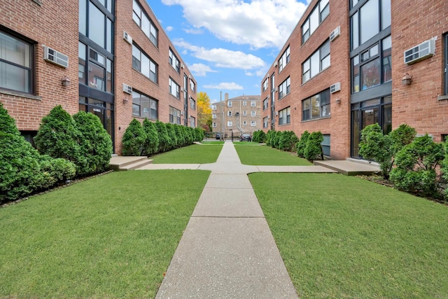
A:
{"type": "MultiPolygon", "coordinates": [[[[298,172],[241,165],[232,142],[216,163],[140,169],[211,170],[156,298],[297,298],[248,173],[298,172]]],[[[335,172],[307,166],[302,172],[335,172]]]]}

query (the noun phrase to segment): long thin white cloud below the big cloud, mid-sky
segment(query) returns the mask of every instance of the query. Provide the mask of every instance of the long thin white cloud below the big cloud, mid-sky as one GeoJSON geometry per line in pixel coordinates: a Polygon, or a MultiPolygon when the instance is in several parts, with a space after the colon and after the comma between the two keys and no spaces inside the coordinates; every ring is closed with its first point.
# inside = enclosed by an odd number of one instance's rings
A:
{"type": "MultiPolygon", "coordinates": [[[[198,47],[183,41],[183,39],[176,39],[173,41],[174,46],[183,48],[184,51],[190,51],[190,55],[194,57],[211,62],[215,67],[224,67],[229,69],[258,69],[265,66],[265,62],[252,54],[246,54],[241,51],[227,50],[223,48],[206,49],[198,47]]],[[[185,53],[185,52],[183,52],[185,53]]]]}

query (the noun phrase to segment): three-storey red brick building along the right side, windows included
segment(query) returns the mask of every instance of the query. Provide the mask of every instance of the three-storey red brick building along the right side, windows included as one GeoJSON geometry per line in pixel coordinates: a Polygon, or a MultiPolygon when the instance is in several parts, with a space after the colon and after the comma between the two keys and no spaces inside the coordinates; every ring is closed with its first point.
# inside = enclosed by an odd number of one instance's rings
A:
{"type": "Polygon", "coordinates": [[[311,1],[262,79],[263,130],[321,131],[332,159],[361,158],[360,130],[372,123],[442,141],[447,15],[441,0],[311,1]]]}

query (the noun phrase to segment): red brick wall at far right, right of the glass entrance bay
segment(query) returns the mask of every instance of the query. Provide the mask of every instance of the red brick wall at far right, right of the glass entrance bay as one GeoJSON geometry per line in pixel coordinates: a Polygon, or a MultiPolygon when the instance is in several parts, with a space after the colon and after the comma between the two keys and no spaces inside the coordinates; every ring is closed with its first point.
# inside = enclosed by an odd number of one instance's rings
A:
{"type": "Polygon", "coordinates": [[[445,1],[392,1],[392,115],[393,128],[403,123],[418,134],[432,134],[441,141],[448,134],[448,99],[444,95],[444,34],[448,32],[448,6],[445,1]],[[407,65],[403,51],[428,39],[436,39],[435,55],[407,65]],[[405,73],[410,85],[402,85],[405,73]]]}

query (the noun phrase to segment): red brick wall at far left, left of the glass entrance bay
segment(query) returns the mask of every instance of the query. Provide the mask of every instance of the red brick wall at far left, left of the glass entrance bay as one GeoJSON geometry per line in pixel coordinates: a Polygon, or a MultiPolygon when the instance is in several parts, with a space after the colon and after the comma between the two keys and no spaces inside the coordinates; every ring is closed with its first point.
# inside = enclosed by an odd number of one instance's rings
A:
{"type": "Polygon", "coordinates": [[[58,104],[71,114],[78,111],[78,4],[42,2],[41,6],[31,0],[1,2],[0,25],[36,42],[34,95],[0,89],[0,102],[19,130],[38,130],[41,118],[58,104]],[[68,55],[69,67],[45,62],[43,45],[68,55]],[[64,76],[71,81],[69,87],[62,86],[64,76]]]}

